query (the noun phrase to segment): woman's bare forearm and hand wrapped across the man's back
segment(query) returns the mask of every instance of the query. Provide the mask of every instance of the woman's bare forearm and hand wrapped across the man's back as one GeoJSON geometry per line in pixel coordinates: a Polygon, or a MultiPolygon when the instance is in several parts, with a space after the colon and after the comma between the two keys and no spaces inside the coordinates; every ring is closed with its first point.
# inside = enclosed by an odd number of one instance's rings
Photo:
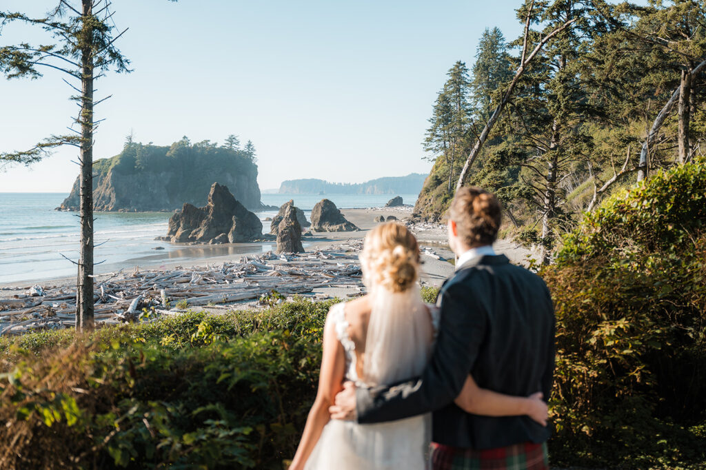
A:
{"type": "Polygon", "coordinates": [[[498,392],[491,392],[478,387],[469,375],[463,390],[454,400],[463,411],[481,416],[521,416],[526,414],[534,421],[546,426],[548,408],[542,400],[542,392],[529,397],[513,397],[498,392]]]}

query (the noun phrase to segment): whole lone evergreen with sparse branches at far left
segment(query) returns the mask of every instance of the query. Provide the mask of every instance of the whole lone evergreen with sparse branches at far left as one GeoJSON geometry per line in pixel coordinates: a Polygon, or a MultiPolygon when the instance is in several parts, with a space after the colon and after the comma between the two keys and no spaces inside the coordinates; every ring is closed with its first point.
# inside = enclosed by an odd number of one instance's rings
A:
{"type": "Polygon", "coordinates": [[[0,154],[0,162],[32,164],[49,155],[61,145],[79,149],[80,164],[80,248],[76,287],[76,328],[94,326],[93,301],[93,143],[99,121],[94,108],[106,98],[96,100],[95,82],[109,70],[128,73],[129,61],[115,46],[126,32],[116,31],[109,0],[61,0],[56,8],[41,18],[24,13],[0,11],[0,25],[22,23],[32,30],[43,30],[52,37],[49,44],[17,44],[0,47],[0,72],[6,78],[39,78],[43,67],[65,74],[73,83],[66,83],[77,93],[80,112],[74,123],[76,134],[52,135],[21,152],[0,154]]]}

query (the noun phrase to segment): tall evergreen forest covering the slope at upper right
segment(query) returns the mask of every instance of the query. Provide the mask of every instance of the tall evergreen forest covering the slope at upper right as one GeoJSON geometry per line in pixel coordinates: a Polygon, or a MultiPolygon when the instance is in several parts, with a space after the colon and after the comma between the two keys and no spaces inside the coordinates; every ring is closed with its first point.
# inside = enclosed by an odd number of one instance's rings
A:
{"type": "Polygon", "coordinates": [[[482,186],[548,263],[602,198],[702,155],[706,7],[525,1],[517,18],[521,37],[486,30],[473,66],[448,71],[424,140],[434,164],[414,212],[443,219],[459,183],[482,186]],[[515,81],[530,46],[555,31],[515,81]]]}

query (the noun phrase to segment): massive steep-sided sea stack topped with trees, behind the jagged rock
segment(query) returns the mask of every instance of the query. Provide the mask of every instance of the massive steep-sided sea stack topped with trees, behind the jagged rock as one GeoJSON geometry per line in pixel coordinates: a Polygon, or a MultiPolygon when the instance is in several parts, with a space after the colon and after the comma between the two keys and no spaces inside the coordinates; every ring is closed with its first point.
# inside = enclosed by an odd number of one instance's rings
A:
{"type": "MultiPolygon", "coordinates": [[[[261,207],[257,167],[241,152],[213,145],[171,147],[131,144],[120,155],[94,164],[93,198],[97,211],[176,210],[206,205],[213,182],[231,189],[248,209],[261,207]]],[[[78,210],[79,181],[59,210],[78,210]]]]}

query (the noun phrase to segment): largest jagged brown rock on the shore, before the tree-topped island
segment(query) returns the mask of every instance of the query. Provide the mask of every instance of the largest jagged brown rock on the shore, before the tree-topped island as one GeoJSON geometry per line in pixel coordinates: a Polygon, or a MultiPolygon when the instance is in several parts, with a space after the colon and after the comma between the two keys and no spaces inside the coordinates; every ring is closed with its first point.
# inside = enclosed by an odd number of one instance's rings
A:
{"type": "Polygon", "coordinates": [[[208,204],[196,207],[184,203],[169,219],[164,240],[178,243],[243,243],[260,239],[263,224],[258,216],[239,203],[228,188],[213,183],[208,204]]]}

